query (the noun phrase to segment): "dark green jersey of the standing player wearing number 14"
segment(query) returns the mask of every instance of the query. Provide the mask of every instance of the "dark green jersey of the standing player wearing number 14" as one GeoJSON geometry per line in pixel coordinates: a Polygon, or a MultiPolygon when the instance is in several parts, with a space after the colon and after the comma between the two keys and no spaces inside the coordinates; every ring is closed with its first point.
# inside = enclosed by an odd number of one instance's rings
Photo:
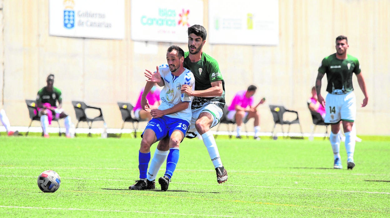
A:
{"type": "Polygon", "coordinates": [[[340,60],[336,58],[336,53],[325,57],[319,73],[326,73],[328,86],[326,91],[332,94],[344,94],[353,91],[352,75],[360,73],[358,58],[347,54],[347,59],[340,60]]]}

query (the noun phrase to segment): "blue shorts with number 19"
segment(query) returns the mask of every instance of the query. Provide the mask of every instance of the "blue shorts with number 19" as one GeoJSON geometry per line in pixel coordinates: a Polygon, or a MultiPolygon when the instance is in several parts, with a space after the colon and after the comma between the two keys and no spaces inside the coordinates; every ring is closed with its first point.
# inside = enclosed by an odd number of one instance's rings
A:
{"type": "MultiPolygon", "coordinates": [[[[157,141],[160,141],[165,136],[170,137],[174,130],[180,130],[183,132],[183,135],[186,135],[188,128],[190,127],[190,123],[183,119],[172,118],[168,116],[162,116],[159,118],[151,119],[146,127],[146,129],[152,129],[154,133],[156,133],[157,141]]],[[[144,131],[145,132],[145,131],[144,131]]],[[[144,133],[141,134],[141,137],[144,133]]]]}

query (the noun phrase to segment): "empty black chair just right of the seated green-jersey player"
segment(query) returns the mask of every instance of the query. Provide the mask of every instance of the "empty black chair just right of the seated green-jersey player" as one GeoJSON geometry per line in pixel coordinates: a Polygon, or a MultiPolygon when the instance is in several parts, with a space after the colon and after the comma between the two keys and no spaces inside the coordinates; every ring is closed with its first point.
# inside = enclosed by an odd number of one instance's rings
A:
{"type": "Polygon", "coordinates": [[[88,136],[92,136],[91,135],[91,128],[92,128],[92,123],[94,121],[103,121],[103,122],[105,122],[104,119],[103,119],[103,113],[101,111],[101,108],[94,107],[94,106],[88,106],[83,101],[72,101],[72,105],[73,105],[73,108],[74,108],[74,112],[76,113],[76,119],[77,119],[76,128],[74,128],[74,132],[75,132],[74,136],[76,136],[76,129],[78,128],[78,124],[80,122],[87,122],[88,128],[89,128],[88,136]],[[94,110],[98,110],[100,114],[97,117],[93,117],[93,118],[87,117],[87,114],[85,113],[85,110],[89,109],[89,108],[90,109],[94,109],[94,110]]]}

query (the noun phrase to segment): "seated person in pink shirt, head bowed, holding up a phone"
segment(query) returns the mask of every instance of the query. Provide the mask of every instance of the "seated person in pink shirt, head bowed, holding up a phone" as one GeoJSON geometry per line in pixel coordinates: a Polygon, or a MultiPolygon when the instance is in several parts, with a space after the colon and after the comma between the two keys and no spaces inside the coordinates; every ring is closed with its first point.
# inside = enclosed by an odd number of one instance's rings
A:
{"type": "Polygon", "coordinates": [[[260,132],[260,113],[257,111],[257,106],[264,103],[265,98],[257,105],[254,103],[254,94],[256,93],[257,87],[255,85],[250,85],[247,90],[242,90],[236,93],[232,103],[229,106],[229,113],[227,114],[227,119],[231,121],[236,121],[237,124],[237,136],[236,138],[241,138],[241,125],[242,123],[248,122],[249,119],[254,118],[254,128],[255,136],[254,139],[259,140],[260,132]]]}

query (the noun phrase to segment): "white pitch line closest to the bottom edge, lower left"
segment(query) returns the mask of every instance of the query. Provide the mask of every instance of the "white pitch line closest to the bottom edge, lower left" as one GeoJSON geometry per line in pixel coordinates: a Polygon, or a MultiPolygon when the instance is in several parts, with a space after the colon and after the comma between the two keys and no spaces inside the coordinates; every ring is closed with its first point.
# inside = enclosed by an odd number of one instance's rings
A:
{"type": "Polygon", "coordinates": [[[182,216],[216,216],[216,217],[239,217],[239,216],[223,216],[210,214],[188,214],[188,213],[164,213],[164,212],[144,212],[144,211],[119,211],[119,210],[98,210],[98,209],[80,209],[80,208],[53,208],[53,207],[20,207],[20,206],[2,206],[5,208],[19,208],[19,209],[44,209],[44,210],[69,210],[69,211],[98,211],[98,212],[120,212],[120,213],[146,213],[146,214],[169,214],[182,216]]]}

